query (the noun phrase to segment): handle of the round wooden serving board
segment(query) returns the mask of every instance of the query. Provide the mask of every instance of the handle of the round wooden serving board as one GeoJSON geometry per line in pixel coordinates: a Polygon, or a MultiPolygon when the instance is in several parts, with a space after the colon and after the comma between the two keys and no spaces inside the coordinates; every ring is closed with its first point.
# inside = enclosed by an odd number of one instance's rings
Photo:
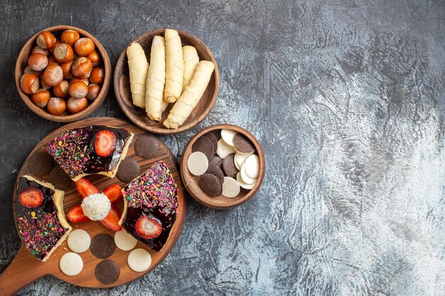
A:
{"type": "Polygon", "coordinates": [[[9,263],[8,267],[0,274],[0,295],[16,295],[23,287],[33,283],[44,275],[45,263],[31,256],[26,247],[21,245],[16,257],[9,263]]]}

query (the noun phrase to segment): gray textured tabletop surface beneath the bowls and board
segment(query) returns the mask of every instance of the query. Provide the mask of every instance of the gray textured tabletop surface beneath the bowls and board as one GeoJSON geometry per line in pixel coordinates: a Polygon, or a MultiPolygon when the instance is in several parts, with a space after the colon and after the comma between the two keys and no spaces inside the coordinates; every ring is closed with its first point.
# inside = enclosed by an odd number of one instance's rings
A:
{"type": "MultiPolygon", "coordinates": [[[[172,27],[213,51],[221,89],[200,126],[161,138],[181,155],[204,126],[243,126],[264,146],[264,185],[229,211],[191,200],[158,268],[95,295],[445,295],[443,1],[25,2],[0,7],[2,269],[20,243],[16,172],[60,126],[18,97],[21,46],[71,24],[114,65],[136,35],[172,27]]],[[[113,91],[92,116],[124,118],[113,91]]],[[[21,295],[92,293],[48,277],[21,295]]]]}

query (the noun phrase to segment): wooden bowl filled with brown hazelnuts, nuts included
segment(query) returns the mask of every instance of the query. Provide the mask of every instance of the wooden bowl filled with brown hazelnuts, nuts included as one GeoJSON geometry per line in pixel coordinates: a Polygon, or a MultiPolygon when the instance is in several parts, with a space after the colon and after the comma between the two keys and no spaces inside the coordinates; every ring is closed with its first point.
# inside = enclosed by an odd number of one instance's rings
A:
{"type": "Polygon", "coordinates": [[[111,78],[102,44],[72,26],[54,26],[33,35],[16,62],[21,99],[50,121],[77,121],[92,114],[107,97],[111,78]]]}

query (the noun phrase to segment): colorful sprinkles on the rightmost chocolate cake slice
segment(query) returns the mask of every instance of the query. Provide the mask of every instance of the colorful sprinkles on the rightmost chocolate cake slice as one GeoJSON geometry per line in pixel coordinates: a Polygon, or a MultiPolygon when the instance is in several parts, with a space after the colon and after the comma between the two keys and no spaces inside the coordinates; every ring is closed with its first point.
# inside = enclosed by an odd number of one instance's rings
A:
{"type": "Polygon", "coordinates": [[[159,212],[167,216],[176,213],[177,192],[171,172],[161,160],[124,188],[124,198],[130,207],[158,207],[159,212]]]}

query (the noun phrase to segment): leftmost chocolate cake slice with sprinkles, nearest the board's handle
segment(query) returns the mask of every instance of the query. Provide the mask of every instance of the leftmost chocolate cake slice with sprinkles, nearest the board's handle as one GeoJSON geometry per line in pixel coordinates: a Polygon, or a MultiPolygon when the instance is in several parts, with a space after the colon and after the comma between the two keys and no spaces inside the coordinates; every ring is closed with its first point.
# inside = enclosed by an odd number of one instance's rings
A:
{"type": "Polygon", "coordinates": [[[40,261],[46,261],[72,230],[63,213],[64,194],[28,175],[18,181],[18,232],[26,248],[40,261]]]}

